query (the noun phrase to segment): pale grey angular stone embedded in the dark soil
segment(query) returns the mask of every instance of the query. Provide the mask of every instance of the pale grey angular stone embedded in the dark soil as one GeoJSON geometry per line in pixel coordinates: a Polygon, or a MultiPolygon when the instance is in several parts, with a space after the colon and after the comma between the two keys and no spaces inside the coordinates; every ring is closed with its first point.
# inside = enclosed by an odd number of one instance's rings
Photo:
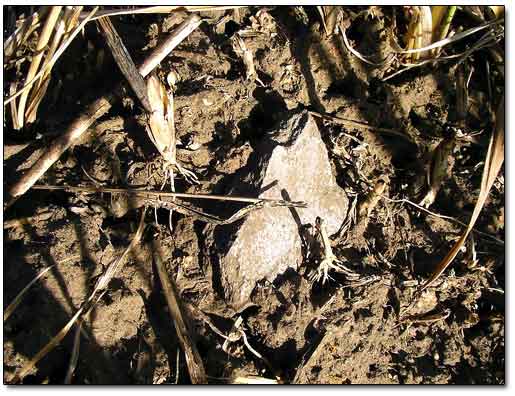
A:
{"type": "Polygon", "coordinates": [[[307,208],[272,207],[251,212],[236,225],[219,227],[221,286],[234,308],[249,302],[257,282],[273,282],[303,262],[300,230],[320,216],[329,235],[345,220],[348,197],[336,184],[317,124],[294,114],[263,138],[234,181],[232,194],[304,201],[307,208]],[[238,187],[239,186],[239,187],[238,187]],[[242,187],[243,186],[243,187],[242,187]]]}

